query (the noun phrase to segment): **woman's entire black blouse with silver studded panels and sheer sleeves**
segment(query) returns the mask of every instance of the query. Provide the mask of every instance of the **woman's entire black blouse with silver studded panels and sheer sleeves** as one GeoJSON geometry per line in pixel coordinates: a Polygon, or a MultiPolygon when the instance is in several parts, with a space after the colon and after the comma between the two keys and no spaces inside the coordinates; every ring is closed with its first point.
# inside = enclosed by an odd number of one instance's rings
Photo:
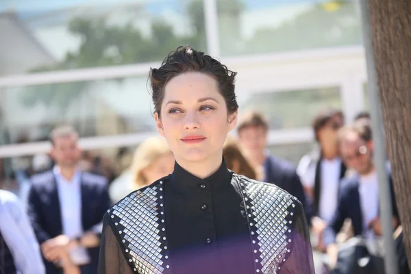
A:
{"type": "Polygon", "coordinates": [[[119,201],[103,221],[99,274],[314,273],[301,203],[227,170],[172,175],[119,201]]]}

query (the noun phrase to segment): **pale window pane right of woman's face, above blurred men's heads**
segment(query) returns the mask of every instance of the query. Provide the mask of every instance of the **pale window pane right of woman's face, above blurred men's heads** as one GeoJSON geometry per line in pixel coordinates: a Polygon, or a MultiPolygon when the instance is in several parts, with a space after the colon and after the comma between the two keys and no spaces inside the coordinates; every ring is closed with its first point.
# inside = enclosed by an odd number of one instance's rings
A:
{"type": "Polygon", "coordinates": [[[258,110],[267,116],[270,129],[307,127],[319,111],[326,107],[340,108],[339,88],[288,90],[251,95],[241,109],[258,110]]]}

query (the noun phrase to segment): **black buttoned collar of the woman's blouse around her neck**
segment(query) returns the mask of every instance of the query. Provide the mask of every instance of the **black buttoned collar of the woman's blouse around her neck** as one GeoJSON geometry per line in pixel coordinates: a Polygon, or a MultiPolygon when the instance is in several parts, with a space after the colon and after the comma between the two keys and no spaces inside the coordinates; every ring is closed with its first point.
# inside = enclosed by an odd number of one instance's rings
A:
{"type": "Polygon", "coordinates": [[[205,179],[192,175],[182,168],[177,162],[174,164],[173,183],[177,188],[190,188],[197,190],[218,190],[231,185],[232,172],[227,169],[227,164],[223,158],[219,169],[205,179]]]}

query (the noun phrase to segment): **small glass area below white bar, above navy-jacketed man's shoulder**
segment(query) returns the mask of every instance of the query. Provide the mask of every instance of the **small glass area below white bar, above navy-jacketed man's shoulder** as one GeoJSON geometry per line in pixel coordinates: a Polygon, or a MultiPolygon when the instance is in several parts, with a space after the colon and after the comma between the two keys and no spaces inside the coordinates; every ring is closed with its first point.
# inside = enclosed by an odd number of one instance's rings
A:
{"type": "Polygon", "coordinates": [[[268,149],[275,157],[288,160],[297,166],[303,155],[311,151],[312,143],[301,142],[297,144],[272,145],[268,149]]]}

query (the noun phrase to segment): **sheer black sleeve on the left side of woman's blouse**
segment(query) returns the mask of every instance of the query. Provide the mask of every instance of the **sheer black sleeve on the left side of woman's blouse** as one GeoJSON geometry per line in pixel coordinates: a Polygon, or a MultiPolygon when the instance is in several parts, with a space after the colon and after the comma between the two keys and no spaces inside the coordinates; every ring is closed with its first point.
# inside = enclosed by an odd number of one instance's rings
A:
{"type": "Polygon", "coordinates": [[[110,217],[105,214],[97,274],[133,274],[125,258],[123,248],[119,245],[119,237],[116,236],[116,233],[110,217]]]}

